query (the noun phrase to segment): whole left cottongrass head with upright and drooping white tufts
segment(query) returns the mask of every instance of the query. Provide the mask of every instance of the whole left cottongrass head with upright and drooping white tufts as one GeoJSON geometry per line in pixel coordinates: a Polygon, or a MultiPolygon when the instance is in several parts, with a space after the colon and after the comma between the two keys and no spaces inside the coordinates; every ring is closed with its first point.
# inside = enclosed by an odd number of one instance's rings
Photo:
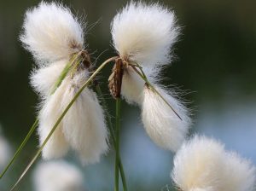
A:
{"type": "MultiPolygon", "coordinates": [[[[32,72],[31,82],[42,99],[38,115],[42,145],[67,104],[89,78],[90,59],[84,50],[85,24],[82,27],[61,4],[43,2],[26,12],[23,28],[20,39],[38,65],[32,72]],[[79,61],[73,61],[73,57],[79,61]],[[72,69],[56,87],[55,82],[65,67],[72,69]]],[[[107,140],[102,107],[94,91],[86,88],[49,138],[43,157],[60,158],[71,147],[84,164],[95,163],[108,151],[107,140]]]]}

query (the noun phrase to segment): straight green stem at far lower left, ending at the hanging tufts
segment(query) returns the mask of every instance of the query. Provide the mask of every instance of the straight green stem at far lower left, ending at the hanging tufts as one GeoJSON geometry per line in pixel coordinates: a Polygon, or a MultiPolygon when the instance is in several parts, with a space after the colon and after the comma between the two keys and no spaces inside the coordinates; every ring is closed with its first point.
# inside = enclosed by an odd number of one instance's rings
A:
{"type": "Polygon", "coordinates": [[[0,178],[2,178],[4,176],[6,171],[9,170],[9,167],[14,163],[15,159],[18,157],[18,155],[19,155],[20,151],[22,150],[22,148],[25,147],[26,142],[28,142],[29,138],[32,136],[32,133],[36,130],[37,126],[38,126],[38,119],[35,120],[34,124],[32,125],[32,128],[27,133],[27,135],[26,135],[25,139],[23,140],[23,142],[21,142],[20,147],[16,150],[15,155],[9,161],[9,164],[4,168],[3,172],[1,173],[0,178]]]}

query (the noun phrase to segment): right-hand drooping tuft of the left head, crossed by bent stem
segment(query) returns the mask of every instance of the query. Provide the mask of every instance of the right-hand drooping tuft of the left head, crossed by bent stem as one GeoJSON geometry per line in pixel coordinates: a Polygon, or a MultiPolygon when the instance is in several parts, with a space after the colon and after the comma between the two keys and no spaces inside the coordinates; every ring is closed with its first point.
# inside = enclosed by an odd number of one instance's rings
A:
{"type": "MultiPolygon", "coordinates": [[[[61,105],[67,105],[88,76],[78,73],[63,94],[61,105]]],[[[86,88],[63,119],[67,141],[79,153],[84,165],[96,163],[108,151],[108,129],[104,112],[95,92],[86,88]]]]}

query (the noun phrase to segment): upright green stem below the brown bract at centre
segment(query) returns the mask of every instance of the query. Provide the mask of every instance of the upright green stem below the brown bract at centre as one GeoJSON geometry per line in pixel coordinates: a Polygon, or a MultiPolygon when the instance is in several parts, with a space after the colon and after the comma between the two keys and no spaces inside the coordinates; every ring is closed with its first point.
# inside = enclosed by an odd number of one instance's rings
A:
{"type": "Polygon", "coordinates": [[[114,171],[114,191],[119,191],[119,130],[120,130],[120,113],[121,113],[121,99],[116,98],[115,111],[115,171],[114,171]]]}

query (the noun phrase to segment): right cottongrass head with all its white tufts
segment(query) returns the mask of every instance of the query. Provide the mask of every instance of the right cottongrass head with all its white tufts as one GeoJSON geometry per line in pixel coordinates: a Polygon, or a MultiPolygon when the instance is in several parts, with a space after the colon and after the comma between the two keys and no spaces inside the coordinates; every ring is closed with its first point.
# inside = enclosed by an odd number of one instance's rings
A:
{"type": "Polygon", "coordinates": [[[189,111],[158,83],[179,34],[175,14],[158,3],[129,3],[114,17],[111,32],[123,69],[122,96],[142,107],[148,136],[176,151],[189,130],[189,111]]]}

